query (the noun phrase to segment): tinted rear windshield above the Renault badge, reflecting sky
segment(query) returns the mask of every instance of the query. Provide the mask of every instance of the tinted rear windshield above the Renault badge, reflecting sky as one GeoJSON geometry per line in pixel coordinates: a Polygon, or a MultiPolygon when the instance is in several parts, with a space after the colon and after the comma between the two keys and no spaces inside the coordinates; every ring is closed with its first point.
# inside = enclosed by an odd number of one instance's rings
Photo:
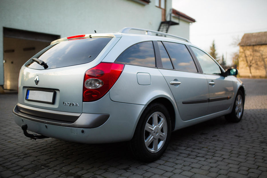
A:
{"type": "MultiPolygon", "coordinates": [[[[111,39],[112,37],[70,39],[46,47],[33,58],[47,63],[47,69],[85,64],[93,61],[111,39]]],[[[36,62],[28,63],[26,66],[33,69],[44,69],[36,62]]]]}

